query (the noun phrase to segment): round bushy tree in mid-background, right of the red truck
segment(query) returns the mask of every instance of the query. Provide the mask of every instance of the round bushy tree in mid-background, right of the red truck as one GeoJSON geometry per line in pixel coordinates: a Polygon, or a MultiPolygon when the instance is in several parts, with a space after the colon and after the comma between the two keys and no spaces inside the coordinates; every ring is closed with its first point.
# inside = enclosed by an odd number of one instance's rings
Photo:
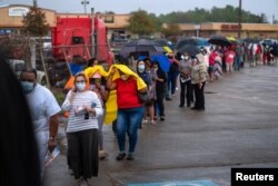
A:
{"type": "Polygon", "coordinates": [[[153,33],[156,30],[156,23],[150,18],[150,16],[143,11],[138,10],[132,12],[132,16],[129,18],[128,30],[132,33],[137,33],[139,36],[146,36],[153,33]]]}

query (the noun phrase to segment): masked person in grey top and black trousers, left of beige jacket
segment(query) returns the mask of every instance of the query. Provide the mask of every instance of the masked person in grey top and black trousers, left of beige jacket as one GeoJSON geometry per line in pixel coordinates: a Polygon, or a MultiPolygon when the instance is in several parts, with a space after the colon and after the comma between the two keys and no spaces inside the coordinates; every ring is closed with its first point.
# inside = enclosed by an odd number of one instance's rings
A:
{"type": "Polygon", "coordinates": [[[179,65],[179,81],[180,81],[180,104],[179,107],[185,106],[185,98],[187,98],[187,107],[190,107],[190,102],[193,101],[193,89],[191,85],[191,68],[192,63],[188,53],[181,56],[179,65]]]}

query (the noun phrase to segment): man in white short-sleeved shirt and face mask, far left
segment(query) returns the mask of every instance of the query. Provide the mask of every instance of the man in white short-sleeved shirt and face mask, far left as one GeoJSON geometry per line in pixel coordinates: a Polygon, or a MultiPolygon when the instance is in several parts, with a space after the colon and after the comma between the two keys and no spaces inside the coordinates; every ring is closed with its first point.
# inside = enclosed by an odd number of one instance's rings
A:
{"type": "Polygon", "coordinates": [[[58,131],[58,105],[52,92],[46,87],[37,84],[37,71],[26,68],[20,74],[20,81],[30,108],[34,134],[39,147],[41,163],[41,177],[44,170],[44,157],[53,150],[57,145],[58,131]]]}

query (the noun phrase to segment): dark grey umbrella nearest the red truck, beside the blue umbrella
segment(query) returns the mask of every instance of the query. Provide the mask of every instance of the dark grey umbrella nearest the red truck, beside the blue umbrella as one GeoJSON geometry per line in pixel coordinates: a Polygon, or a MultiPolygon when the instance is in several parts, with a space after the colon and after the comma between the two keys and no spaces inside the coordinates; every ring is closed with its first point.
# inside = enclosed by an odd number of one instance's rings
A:
{"type": "Polygon", "coordinates": [[[158,46],[156,42],[148,39],[139,39],[127,43],[119,52],[123,57],[130,53],[148,52],[150,55],[158,55],[166,52],[163,47],[158,46]]]}

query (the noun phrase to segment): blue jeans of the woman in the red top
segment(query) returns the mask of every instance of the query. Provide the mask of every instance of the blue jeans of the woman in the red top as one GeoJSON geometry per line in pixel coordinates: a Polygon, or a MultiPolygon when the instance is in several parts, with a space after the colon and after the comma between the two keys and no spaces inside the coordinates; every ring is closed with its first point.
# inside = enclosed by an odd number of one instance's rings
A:
{"type": "Polygon", "coordinates": [[[143,107],[119,109],[117,117],[117,138],[121,153],[126,151],[126,133],[129,137],[129,153],[135,153],[138,127],[142,120],[143,107]]]}

